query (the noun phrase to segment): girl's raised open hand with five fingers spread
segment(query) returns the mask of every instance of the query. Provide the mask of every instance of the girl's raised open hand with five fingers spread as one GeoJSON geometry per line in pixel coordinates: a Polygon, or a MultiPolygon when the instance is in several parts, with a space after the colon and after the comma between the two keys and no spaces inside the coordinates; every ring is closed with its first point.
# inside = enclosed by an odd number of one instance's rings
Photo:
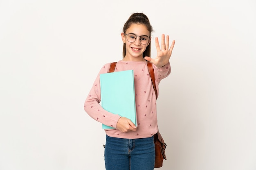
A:
{"type": "Polygon", "coordinates": [[[158,38],[155,37],[155,46],[157,48],[157,57],[155,59],[152,59],[150,57],[145,57],[144,59],[155,64],[155,66],[157,68],[160,68],[169,62],[169,59],[170,59],[172,51],[173,51],[174,44],[175,44],[175,40],[173,40],[171,47],[169,48],[169,35],[166,36],[166,41],[165,41],[165,35],[162,34],[162,41],[161,41],[161,48],[160,48],[158,38]]]}

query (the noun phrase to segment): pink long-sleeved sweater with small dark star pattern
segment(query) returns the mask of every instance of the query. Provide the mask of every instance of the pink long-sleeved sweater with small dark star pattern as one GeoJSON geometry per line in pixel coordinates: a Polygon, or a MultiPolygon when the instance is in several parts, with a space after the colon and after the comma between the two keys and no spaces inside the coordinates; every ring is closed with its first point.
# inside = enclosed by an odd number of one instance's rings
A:
{"type": "MultiPolygon", "coordinates": [[[[170,63],[161,68],[156,68],[153,64],[153,67],[158,92],[159,82],[171,73],[170,63]]],[[[109,68],[110,63],[103,65],[99,74],[107,73],[109,68]]],[[[111,137],[127,139],[151,137],[157,133],[157,109],[156,96],[146,61],[118,61],[115,72],[124,70],[133,70],[134,72],[137,131],[122,133],[118,129],[111,129],[105,130],[105,132],[111,137]]],[[[94,120],[116,128],[120,116],[104,110],[99,104],[101,101],[99,74],[85,100],[84,109],[94,120]]]]}

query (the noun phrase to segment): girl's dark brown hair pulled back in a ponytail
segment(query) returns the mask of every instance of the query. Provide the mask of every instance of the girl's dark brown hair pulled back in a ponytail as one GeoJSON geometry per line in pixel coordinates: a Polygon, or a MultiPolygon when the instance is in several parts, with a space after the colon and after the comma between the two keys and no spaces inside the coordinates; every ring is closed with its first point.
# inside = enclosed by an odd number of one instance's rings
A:
{"type": "MultiPolygon", "coordinates": [[[[126,33],[127,29],[130,28],[131,24],[142,24],[145,25],[150,33],[149,37],[151,36],[151,32],[153,31],[152,26],[148,20],[148,17],[144,13],[133,13],[126,23],[124,24],[123,32],[126,33]]],[[[148,56],[150,57],[151,51],[151,41],[149,42],[146,50],[143,52],[143,57],[148,56]]],[[[124,43],[123,46],[123,57],[126,55],[126,44],[124,43]]]]}

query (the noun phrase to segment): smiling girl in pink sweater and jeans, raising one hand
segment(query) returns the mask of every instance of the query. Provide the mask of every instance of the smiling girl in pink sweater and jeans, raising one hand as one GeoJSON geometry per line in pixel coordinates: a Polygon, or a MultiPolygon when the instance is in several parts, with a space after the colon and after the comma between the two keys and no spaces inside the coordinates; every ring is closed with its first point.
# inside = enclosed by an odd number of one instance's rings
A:
{"type": "MultiPolygon", "coordinates": [[[[169,59],[175,44],[169,47],[169,36],[162,35],[161,46],[155,38],[157,56],[150,58],[152,26],[143,13],[133,13],[124,24],[121,33],[123,59],[117,62],[115,72],[133,70],[137,127],[131,120],[104,110],[101,101],[99,75],[107,73],[110,63],[101,68],[88,97],[84,109],[94,120],[115,129],[106,131],[105,166],[106,170],[153,170],[155,145],[153,135],[157,133],[156,95],[148,72],[147,61],[153,63],[155,83],[158,92],[159,82],[170,72],[169,59]]],[[[158,96],[158,94],[157,94],[158,96]]]]}

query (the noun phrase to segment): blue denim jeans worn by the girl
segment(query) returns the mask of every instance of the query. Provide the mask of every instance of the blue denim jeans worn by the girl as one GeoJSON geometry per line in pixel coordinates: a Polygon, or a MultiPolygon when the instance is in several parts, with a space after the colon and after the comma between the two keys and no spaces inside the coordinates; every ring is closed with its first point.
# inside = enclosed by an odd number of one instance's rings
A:
{"type": "Polygon", "coordinates": [[[106,135],[106,170],[153,170],[154,137],[122,139],[106,135]]]}

